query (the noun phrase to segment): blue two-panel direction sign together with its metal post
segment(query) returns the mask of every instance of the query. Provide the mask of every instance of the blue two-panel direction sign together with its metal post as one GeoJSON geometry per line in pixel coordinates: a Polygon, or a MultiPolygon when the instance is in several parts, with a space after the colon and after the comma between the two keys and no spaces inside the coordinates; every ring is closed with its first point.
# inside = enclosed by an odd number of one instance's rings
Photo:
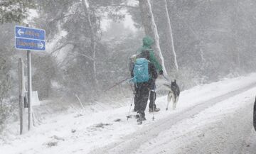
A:
{"type": "Polygon", "coordinates": [[[15,26],[15,48],[18,50],[27,50],[28,64],[28,131],[32,126],[32,77],[31,77],[31,50],[46,50],[46,31],[38,28],[29,28],[15,26]]]}

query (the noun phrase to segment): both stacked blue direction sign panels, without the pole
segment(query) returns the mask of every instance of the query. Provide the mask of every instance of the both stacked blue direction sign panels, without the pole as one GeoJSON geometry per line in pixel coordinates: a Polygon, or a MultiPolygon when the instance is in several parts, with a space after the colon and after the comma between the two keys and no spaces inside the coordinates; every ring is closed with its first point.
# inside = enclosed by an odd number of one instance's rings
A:
{"type": "Polygon", "coordinates": [[[46,31],[15,26],[15,48],[19,50],[46,50],[46,31]]]}

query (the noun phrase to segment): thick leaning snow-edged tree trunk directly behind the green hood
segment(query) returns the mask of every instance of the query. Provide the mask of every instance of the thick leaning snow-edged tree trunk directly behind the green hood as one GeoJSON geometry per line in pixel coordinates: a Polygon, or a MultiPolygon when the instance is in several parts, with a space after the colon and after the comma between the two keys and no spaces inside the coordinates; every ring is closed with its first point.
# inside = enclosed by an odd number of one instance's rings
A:
{"type": "Polygon", "coordinates": [[[164,57],[161,53],[161,48],[159,44],[159,34],[156,28],[156,23],[154,21],[154,15],[152,13],[151,4],[149,0],[139,0],[139,9],[142,14],[142,23],[144,26],[144,31],[146,35],[154,38],[154,49],[156,50],[156,55],[161,59],[161,65],[163,67],[164,74],[167,75],[166,67],[164,65],[164,57]]]}

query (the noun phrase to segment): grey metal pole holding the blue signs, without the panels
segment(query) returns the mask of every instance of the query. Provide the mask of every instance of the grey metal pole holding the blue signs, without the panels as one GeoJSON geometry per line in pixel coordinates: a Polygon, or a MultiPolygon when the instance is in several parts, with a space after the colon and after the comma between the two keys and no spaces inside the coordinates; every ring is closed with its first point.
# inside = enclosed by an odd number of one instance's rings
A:
{"type": "MultiPolygon", "coordinates": [[[[28,24],[26,25],[28,27],[28,24]]],[[[28,131],[32,126],[32,109],[31,109],[31,94],[32,94],[32,77],[31,77],[31,50],[27,50],[28,60],[28,131]]]]}

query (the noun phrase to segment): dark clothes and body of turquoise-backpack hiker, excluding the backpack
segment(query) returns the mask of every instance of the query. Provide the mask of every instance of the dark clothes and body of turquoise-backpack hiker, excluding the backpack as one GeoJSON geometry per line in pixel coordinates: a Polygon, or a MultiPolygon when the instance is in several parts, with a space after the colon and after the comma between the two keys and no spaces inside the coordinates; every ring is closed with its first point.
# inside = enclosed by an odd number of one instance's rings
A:
{"type": "MultiPolygon", "coordinates": [[[[144,51],[140,57],[146,58],[149,60],[149,51],[144,51]]],[[[145,109],[146,104],[149,99],[149,94],[154,90],[153,86],[155,79],[157,78],[156,67],[149,61],[148,64],[149,69],[149,81],[148,82],[140,82],[135,84],[135,98],[134,101],[137,101],[137,113],[139,114],[138,123],[141,124],[142,121],[146,120],[145,118],[145,109]]],[[[132,77],[134,77],[132,72],[132,77]]]]}

